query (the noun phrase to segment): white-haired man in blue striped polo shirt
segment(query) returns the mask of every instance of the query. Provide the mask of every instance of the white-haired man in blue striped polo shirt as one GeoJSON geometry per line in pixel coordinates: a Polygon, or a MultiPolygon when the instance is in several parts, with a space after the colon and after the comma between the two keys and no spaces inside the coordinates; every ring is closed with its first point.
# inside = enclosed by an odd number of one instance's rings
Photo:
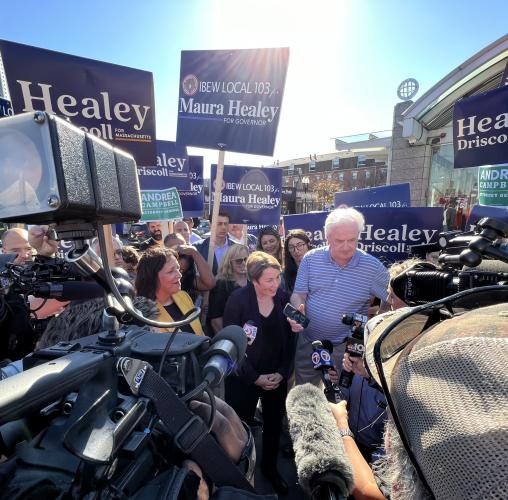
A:
{"type": "Polygon", "coordinates": [[[350,334],[342,316],[366,315],[372,297],[387,298],[388,271],[376,257],[358,249],[364,227],[363,215],[354,208],[335,209],[325,222],[328,245],[308,252],[298,268],[291,303],[310,323],[304,330],[289,320],[293,331],[300,331],[295,357],[297,384],[320,383],[311,362],[314,340],[330,340],[334,364],[341,366],[344,341],[350,334]]]}

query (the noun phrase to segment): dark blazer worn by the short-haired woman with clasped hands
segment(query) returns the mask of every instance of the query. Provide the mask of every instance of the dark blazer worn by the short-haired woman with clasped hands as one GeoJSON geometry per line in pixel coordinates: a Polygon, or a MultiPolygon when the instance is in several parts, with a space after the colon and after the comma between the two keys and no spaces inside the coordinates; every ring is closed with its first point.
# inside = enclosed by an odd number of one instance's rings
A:
{"type": "Polygon", "coordinates": [[[224,309],[224,326],[238,325],[243,327],[245,323],[251,322],[257,327],[257,335],[254,342],[247,346],[246,357],[237,368],[237,375],[246,383],[253,384],[260,373],[261,361],[270,356],[277,356],[273,352],[273,344],[280,344],[278,358],[273,359],[277,366],[274,372],[280,373],[286,380],[290,375],[293,365],[295,334],[283,314],[284,306],[289,302],[289,295],[281,288],[277,290],[274,297],[274,308],[278,318],[279,328],[275,332],[263,332],[261,328],[261,314],[259,312],[256,291],[252,283],[235,290],[229,297],[224,309]]]}

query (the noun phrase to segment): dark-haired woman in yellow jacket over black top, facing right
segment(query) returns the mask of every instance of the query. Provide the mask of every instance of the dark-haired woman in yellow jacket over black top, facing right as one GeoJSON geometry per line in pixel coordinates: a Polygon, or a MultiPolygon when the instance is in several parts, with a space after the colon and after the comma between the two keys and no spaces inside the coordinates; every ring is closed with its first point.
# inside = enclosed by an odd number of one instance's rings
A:
{"type": "MultiPolygon", "coordinates": [[[[142,297],[156,301],[159,321],[178,321],[194,308],[189,294],[181,289],[181,277],[178,254],[175,250],[150,248],[141,257],[136,275],[136,292],[142,297]]],[[[197,319],[181,329],[203,335],[203,328],[197,319]]],[[[172,330],[162,328],[158,331],[172,330]]]]}

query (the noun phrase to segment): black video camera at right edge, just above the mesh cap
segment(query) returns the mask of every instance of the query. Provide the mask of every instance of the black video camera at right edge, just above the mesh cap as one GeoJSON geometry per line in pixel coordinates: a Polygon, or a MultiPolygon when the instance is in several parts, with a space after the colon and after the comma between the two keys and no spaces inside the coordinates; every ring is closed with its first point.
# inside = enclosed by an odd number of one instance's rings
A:
{"type": "Polygon", "coordinates": [[[440,251],[441,267],[416,264],[391,281],[392,290],[408,305],[417,305],[470,288],[507,284],[508,251],[502,248],[502,238],[507,237],[508,224],[486,217],[473,232],[445,232],[437,244],[414,245],[413,255],[440,251]]]}

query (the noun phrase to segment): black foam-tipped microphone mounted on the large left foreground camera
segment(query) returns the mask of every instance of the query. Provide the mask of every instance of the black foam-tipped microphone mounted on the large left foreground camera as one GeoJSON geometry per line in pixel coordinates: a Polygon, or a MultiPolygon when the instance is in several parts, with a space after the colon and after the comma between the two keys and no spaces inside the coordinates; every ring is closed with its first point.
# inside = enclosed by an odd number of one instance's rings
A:
{"type": "Polygon", "coordinates": [[[204,354],[208,361],[203,366],[202,375],[208,385],[219,385],[243,360],[246,349],[247,336],[240,326],[230,325],[222,329],[204,354]]]}

